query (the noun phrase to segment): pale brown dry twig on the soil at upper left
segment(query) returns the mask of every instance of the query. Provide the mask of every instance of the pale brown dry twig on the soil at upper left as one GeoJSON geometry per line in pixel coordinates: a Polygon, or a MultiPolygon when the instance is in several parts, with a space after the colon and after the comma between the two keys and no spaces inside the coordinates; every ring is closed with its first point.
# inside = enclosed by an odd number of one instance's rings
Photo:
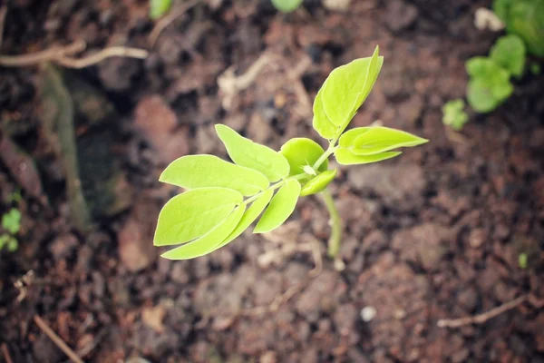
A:
{"type": "Polygon", "coordinates": [[[0,65],[5,67],[24,67],[30,65],[53,62],[69,68],[84,68],[92,64],[102,62],[106,58],[113,56],[122,56],[130,58],[144,59],[148,56],[148,51],[139,48],[125,46],[111,46],[102,49],[102,51],[83,58],[73,58],[74,54],[83,52],[86,44],[83,41],[76,41],[66,46],[54,46],[34,54],[23,55],[0,55],[0,65]]]}

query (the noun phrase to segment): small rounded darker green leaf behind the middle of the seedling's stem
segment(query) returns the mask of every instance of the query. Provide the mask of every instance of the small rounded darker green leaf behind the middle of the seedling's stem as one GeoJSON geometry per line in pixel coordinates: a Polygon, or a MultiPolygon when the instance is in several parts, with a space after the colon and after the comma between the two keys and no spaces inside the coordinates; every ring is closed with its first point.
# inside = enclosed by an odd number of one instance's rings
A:
{"type": "MultiPolygon", "coordinates": [[[[285,156],[289,162],[289,175],[293,176],[303,173],[305,165],[314,165],[325,151],[317,142],[306,139],[306,137],[297,137],[284,143],[279,153],[285,156]]],[[[325,172],[327,167],[328,161],[325,160],[318,170],[325,172]]]]}

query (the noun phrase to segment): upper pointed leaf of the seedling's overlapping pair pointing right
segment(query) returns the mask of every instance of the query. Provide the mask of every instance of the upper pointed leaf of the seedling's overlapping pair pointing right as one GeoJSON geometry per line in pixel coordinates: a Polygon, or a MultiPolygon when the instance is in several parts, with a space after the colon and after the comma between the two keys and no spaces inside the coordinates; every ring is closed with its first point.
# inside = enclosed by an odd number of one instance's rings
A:
{"type": "Polygon", "coordinates": [[[355,139],[351,152],[357,155],[374,155],[400,147],[421,145],[425,142],[429,141],[409,132],[388,127],[371,127],[355,139]]]}

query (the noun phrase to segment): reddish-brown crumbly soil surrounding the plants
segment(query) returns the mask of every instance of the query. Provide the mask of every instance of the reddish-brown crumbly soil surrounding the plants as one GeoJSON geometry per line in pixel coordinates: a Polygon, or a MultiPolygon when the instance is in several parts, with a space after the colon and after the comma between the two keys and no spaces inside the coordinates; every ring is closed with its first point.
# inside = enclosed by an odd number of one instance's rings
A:
{"type": "Polygon", "coordinates": [[[351,3],[310,0],[281,15],[264,0],[203,0],[151,44],[146,1],[9,2],[0,54],[78,39],[87,54],[150,51],[63,70],[88,228],[74,222],[83,209],[68,199],[65,140],[48,127],[47,68],[0,67],[1,211],[23,214],[19,249],[0,255],[0,341],[12,361],[66,361],[35,316],[88,362],[544,361],[544,77],[526,74],[499,109],[449,132],[442,104],[463,97],[464,62],[499,36],[473,25],[491,2],[351,3]],[[314,197],[273,233],[160,259],[154,223],[180,192],[157,182],[168,162],[226,157],[215,123],[274,148],[318,140],[319,86],[376,44],[384,68],[353,125],[379,120],[431,142],[340,169],[344,270],[325,258],[327,215],[314,197]],[[219,87],[263,54],[246,89],[219,87]],[[482,324],[437,326],[525,294],[482,324]]]}

